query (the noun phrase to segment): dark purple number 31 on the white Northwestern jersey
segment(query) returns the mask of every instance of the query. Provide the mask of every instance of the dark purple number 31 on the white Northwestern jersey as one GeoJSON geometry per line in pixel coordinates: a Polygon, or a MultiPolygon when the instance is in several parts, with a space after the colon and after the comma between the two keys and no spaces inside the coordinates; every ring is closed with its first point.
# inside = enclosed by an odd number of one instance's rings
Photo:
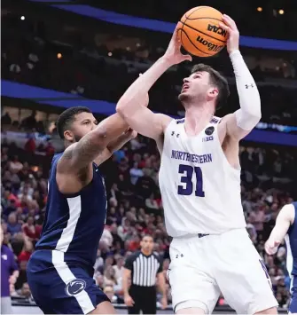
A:
{"type": "Polygon", "coordinates": [[[193,193],[192,177],[196,176],[195,196],[204,197],[203,192],[203,178],[202,171],[198,166],[192,167],[191,165],[180,164],[178,167],[178,173],[182,174],[181,183],[184,185],[178,185],[177,193],[190,196],[193,193]]]}

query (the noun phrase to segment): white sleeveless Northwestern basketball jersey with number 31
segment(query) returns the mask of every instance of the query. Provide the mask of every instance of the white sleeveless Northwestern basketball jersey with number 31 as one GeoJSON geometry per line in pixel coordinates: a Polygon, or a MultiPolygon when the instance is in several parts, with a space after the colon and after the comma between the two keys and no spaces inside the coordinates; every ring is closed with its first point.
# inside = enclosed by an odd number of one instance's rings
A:
{"type": "Polygon", "coordinates": [[[184,119],[169,123],[159,172],[168,234],[217,234],[246,227],[240,170],[223,154],[214,117],[199,135],[187,136],[184,119]]]}

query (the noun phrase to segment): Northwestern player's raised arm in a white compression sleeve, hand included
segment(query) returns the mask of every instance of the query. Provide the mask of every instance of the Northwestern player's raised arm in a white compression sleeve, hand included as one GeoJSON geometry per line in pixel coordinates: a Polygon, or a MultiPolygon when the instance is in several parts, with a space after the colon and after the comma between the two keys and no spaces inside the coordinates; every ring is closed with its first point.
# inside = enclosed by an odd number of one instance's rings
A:
{"type": "Polygon", "coordinates": [[[238,111],[225,117],[227,133],[231,138],[239,140],[246,137],[260,121],[261,99],[257,86],[254,83],[254,78],[246,67],[246,63],[238,50],[238,28],[234,20],[228,15],[223,15],[223,22],[220,23],[220,27],[225,29],[229,34],[227,50],[234,69],[240,104],[238,111]]]}

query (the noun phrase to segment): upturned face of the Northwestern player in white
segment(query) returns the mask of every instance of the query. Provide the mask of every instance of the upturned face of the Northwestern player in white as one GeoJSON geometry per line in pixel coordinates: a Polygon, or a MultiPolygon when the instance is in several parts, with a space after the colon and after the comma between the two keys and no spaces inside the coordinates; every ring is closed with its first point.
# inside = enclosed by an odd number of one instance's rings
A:
{"type": "Polygon", "coordinates": [[[184,78],[184,85],[178,99],[182,102],[195,99],[204,100],[214,90],[216,89],[209,83],[208,72],[195,72],[184,78]]]}

